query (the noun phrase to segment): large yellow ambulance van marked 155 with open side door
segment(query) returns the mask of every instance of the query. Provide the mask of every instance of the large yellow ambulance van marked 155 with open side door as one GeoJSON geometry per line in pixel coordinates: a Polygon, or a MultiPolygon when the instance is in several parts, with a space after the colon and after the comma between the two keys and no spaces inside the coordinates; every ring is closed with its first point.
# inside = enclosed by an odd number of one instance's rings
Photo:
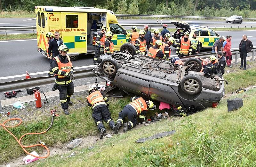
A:
{"type": "Polygon", "coordinates": [[[37,50],[44,56],[46,56],[48,43],[45,34],[48,32],[60,33],[60,38],[69,48],[68,55],[72,61],[76,60],[79,55],[95,53],[96,36],[103,25],[108,28],[107,31],[114,33],[112,38],[114,50],[119,51],[130,35],[118,23],[115,13],[106,9],[35,6],[35,11],[37,50]]]}

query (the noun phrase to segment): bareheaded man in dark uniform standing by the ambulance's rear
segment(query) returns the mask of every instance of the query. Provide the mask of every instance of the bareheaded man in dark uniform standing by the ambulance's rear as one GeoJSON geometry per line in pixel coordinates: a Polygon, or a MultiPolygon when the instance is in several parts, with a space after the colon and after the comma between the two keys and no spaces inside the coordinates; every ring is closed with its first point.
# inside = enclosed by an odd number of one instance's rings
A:
{"type": "Polygon", "coordinates": [[[52,61],[53,58],[59,55],[59,47],[60,45],[63,45],[63,40],[60,39],[60,33],[59,32],[55,32],[54,33],[54,37],[49,41],[49,47],[48,47],[48,55],[52,55],[50,58],[50,68],[49,68],[49,72],[48,75],[52,75],[52,61]]]}

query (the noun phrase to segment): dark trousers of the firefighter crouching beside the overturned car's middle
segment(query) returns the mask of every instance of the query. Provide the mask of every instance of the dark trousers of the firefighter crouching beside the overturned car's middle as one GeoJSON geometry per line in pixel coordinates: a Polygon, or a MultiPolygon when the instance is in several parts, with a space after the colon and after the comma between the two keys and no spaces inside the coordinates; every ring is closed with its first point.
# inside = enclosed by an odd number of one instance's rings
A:
{"type": "MultiPolygon", "coordinates": [[[[135,112],[135,111],[134,111],[135,112]]],[[[138,123],[137,120],[137,113],[133,113],[133,111],[131,111],[129,108],[125,107],[123,108],[123,110],[118,114],[119,117],[116,121],[117,122],[121,122],[121,124],[123,124],[125,117],[128,117],[128,124],[129,127],[128,128],[132,128],[135,127],[136,124],[138,123]]]]}

